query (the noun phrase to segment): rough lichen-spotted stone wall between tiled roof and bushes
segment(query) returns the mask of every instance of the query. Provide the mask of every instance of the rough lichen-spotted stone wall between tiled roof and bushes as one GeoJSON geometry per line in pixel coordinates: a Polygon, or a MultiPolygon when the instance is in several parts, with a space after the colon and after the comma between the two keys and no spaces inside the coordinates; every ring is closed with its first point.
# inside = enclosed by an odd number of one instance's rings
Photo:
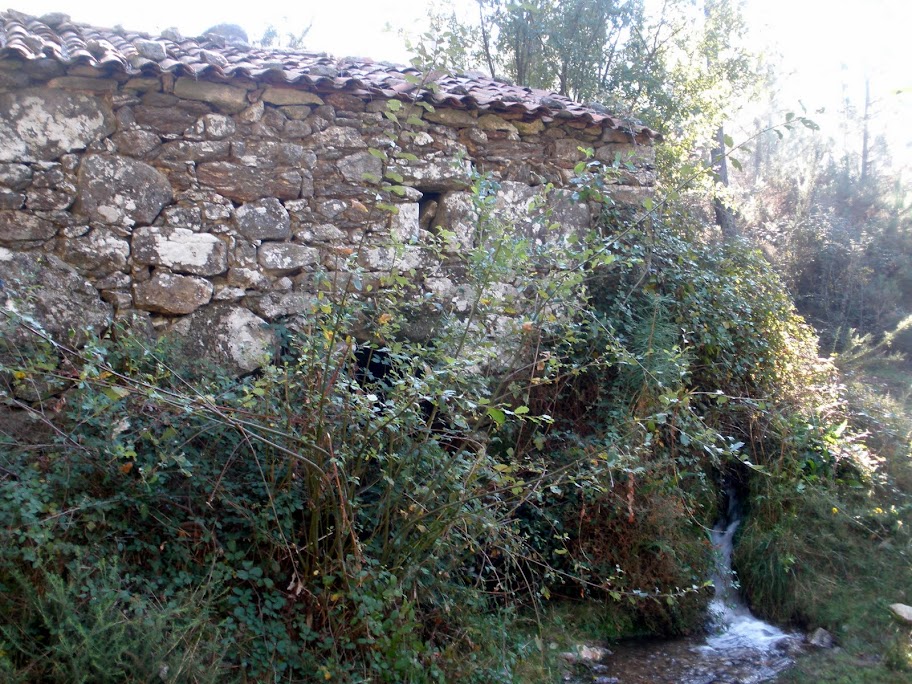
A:
{"type": "Polygon", "coordinates": [[[546,184],[558,188],[550,222],[590,224],[592,208],[560,190],[581,147],[629,162],[621,203],[654,180],[653,148],[624,131],[405,109],[423,125],[350,92],[0,61],[0,278],[31,293],[52,334],[139,315],[246,371],[269,346],[263,324],[307,311],[315,274],[332,280],[353,251],[368,275],[399,268],[441,306],[466,307],[470,164],[500,181],[499,204],[536,240],[555,235],[525,211],[546,184]],[[371,179],[384,176],[405,188],[383,198],[396,213],[377,208],[371,179]],[[441,226],[444,256],[428,249],[441,226]]]}

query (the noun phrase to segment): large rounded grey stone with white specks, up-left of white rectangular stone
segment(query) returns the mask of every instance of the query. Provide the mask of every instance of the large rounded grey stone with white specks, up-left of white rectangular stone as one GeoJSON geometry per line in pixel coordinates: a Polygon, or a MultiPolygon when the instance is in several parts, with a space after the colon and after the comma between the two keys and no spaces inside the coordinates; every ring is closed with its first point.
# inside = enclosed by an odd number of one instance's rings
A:
{"type": "Polygon", "coordinates": [[[172,198],[168,179],[153,167],[101,154],[82,160],[77,189],[90,218],[126,227],[151,224],[172,198]]]}

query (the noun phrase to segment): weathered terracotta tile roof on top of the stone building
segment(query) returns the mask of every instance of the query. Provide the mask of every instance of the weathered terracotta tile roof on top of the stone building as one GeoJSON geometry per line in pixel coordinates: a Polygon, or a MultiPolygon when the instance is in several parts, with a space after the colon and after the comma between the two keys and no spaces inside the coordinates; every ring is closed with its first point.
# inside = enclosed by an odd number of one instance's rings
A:
{"type": "Polygon", "coordinates": [[[336,59],[325,53],[264,49],[219,36],[184,38],[174,31],[146,33],[78,24],[64,14],[36,18],[0,12],[0,59],[50,58],[67,66],[82,64],[128,75],[169,72],[211,80],[252,78],[285,83],[315,92],[345,91],[369,99],[422,99],[433,105],[530,117],[575,119],[658,138],[643,126],[612,117],[600,105],[583,105],[556,93],[523,88],[481,74],[434,73],[437,88],[422,88],[413,67],[362,58],[336,59]]]}

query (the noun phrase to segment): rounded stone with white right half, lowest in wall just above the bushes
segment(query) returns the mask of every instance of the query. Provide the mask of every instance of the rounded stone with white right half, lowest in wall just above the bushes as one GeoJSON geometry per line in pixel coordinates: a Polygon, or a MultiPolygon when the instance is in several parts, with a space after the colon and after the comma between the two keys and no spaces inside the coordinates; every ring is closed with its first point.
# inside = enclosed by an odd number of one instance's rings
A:
{"type": "Polygon", "coordinates": [[[186,353],[207,359],[232,375],[256,370],[272,357],[275,335],[266,321],[240,306],[220,303],[181,319],[170,330],[186,353]]]}

